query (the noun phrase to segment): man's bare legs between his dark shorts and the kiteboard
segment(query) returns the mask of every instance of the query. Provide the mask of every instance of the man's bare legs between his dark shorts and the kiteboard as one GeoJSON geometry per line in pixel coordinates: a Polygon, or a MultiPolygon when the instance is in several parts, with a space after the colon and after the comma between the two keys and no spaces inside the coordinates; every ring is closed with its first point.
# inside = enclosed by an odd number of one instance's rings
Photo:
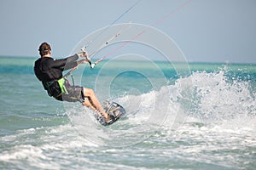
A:
{"type": "Polygon", "coordinates": [[[84,97],[88,99],[84,99],[83,105],[89,107],[93,111],[100,111],[105,119],[108,121],[108,114],[102,109],[102,105],[99,100],[96,98],[96,94],[90,88],[84,88],[84,97]]]}

